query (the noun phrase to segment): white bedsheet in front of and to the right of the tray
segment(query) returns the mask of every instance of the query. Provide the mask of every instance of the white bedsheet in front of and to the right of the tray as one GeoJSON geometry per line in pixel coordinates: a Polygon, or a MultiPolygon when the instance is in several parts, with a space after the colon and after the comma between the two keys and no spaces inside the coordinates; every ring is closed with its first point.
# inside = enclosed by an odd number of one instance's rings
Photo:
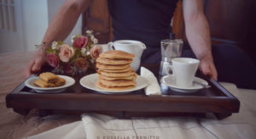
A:
{"type": "Polygon", "coordinates": [[[256,90],[221,83],[240,100],[240,112],[224,120],[195,117],[132,118],[119,120],[102,114],[83,114],[82,120],[27,138],[87,139],[205,139],[256,138],[256,90]]]}

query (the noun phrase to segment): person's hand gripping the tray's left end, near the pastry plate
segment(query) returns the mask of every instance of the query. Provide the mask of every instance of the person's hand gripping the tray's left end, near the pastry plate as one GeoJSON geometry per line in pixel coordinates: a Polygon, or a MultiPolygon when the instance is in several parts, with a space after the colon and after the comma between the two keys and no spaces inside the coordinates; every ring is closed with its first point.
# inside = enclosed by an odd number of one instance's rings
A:
{"type": "Polygon", "coordinates": [[[40,71],[45,63],[45,54],[38,50],[32,60],[26,65],[26,68],[24,70],[25,77],[27,78],[28,76],[32,75],[33,72],[40,71]]]}

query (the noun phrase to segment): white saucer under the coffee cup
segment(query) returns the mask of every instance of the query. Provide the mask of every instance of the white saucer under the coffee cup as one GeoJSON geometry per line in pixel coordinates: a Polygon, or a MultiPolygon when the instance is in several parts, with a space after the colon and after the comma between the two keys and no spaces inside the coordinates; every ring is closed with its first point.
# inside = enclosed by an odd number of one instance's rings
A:
{"type": "MultiPolygon", "coordinates": [[[[169,88],[175,92],[197,92],[199,89],[204,88],[203,86],[197,83],[193,83],[192,86],[188,86],[188,87],[177,86],[175,80],[176,80],[176,77],[174,75],[166,75],[162,77],[161,83],[166,86],[169,86],[169,88]]],[[[194,80],[197,82],[201,82],[204,85],[208,85],[207,81],[199,77],[195,77],[194,80]]]]}

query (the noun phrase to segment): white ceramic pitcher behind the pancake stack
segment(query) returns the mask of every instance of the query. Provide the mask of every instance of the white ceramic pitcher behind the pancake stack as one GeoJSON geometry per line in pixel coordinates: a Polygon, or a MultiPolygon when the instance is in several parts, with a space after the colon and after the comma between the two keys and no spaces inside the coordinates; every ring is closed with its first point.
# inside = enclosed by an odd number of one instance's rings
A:
{"type": "Polygon", "coordinates": [[[135,54],[133,62],[131,63],[131,68],[137,71],[141,64],[141,57],[143,51],[147,47],[143,42],[133,41],[133,40],[119,40],[115,42],[108,42],[108,50],[121,50],[127,53],[135,54]]]}

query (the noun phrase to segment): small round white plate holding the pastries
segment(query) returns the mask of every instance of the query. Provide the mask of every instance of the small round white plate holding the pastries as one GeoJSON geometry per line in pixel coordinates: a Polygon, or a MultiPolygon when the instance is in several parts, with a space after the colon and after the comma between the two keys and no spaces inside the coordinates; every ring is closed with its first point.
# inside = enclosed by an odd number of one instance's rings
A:
{"type": "Polygon", "coordinates": [[[36,85],[34,85],[34,82],[38,80],[38,77],[32,77],[25,81],[25,86],[34,89],[36,92],[48,92],[48,93],[56,93],[56,92],[63,92],[67,89],[69,86],[73,86],[75,83],[75,80],[72,77],[69,77],[67,75],[58,75],[59,77],[63,78],[66,83],[63,86],[57,86],[57,87],[47,87],[47,88],[41,88],[36,85]]]}

